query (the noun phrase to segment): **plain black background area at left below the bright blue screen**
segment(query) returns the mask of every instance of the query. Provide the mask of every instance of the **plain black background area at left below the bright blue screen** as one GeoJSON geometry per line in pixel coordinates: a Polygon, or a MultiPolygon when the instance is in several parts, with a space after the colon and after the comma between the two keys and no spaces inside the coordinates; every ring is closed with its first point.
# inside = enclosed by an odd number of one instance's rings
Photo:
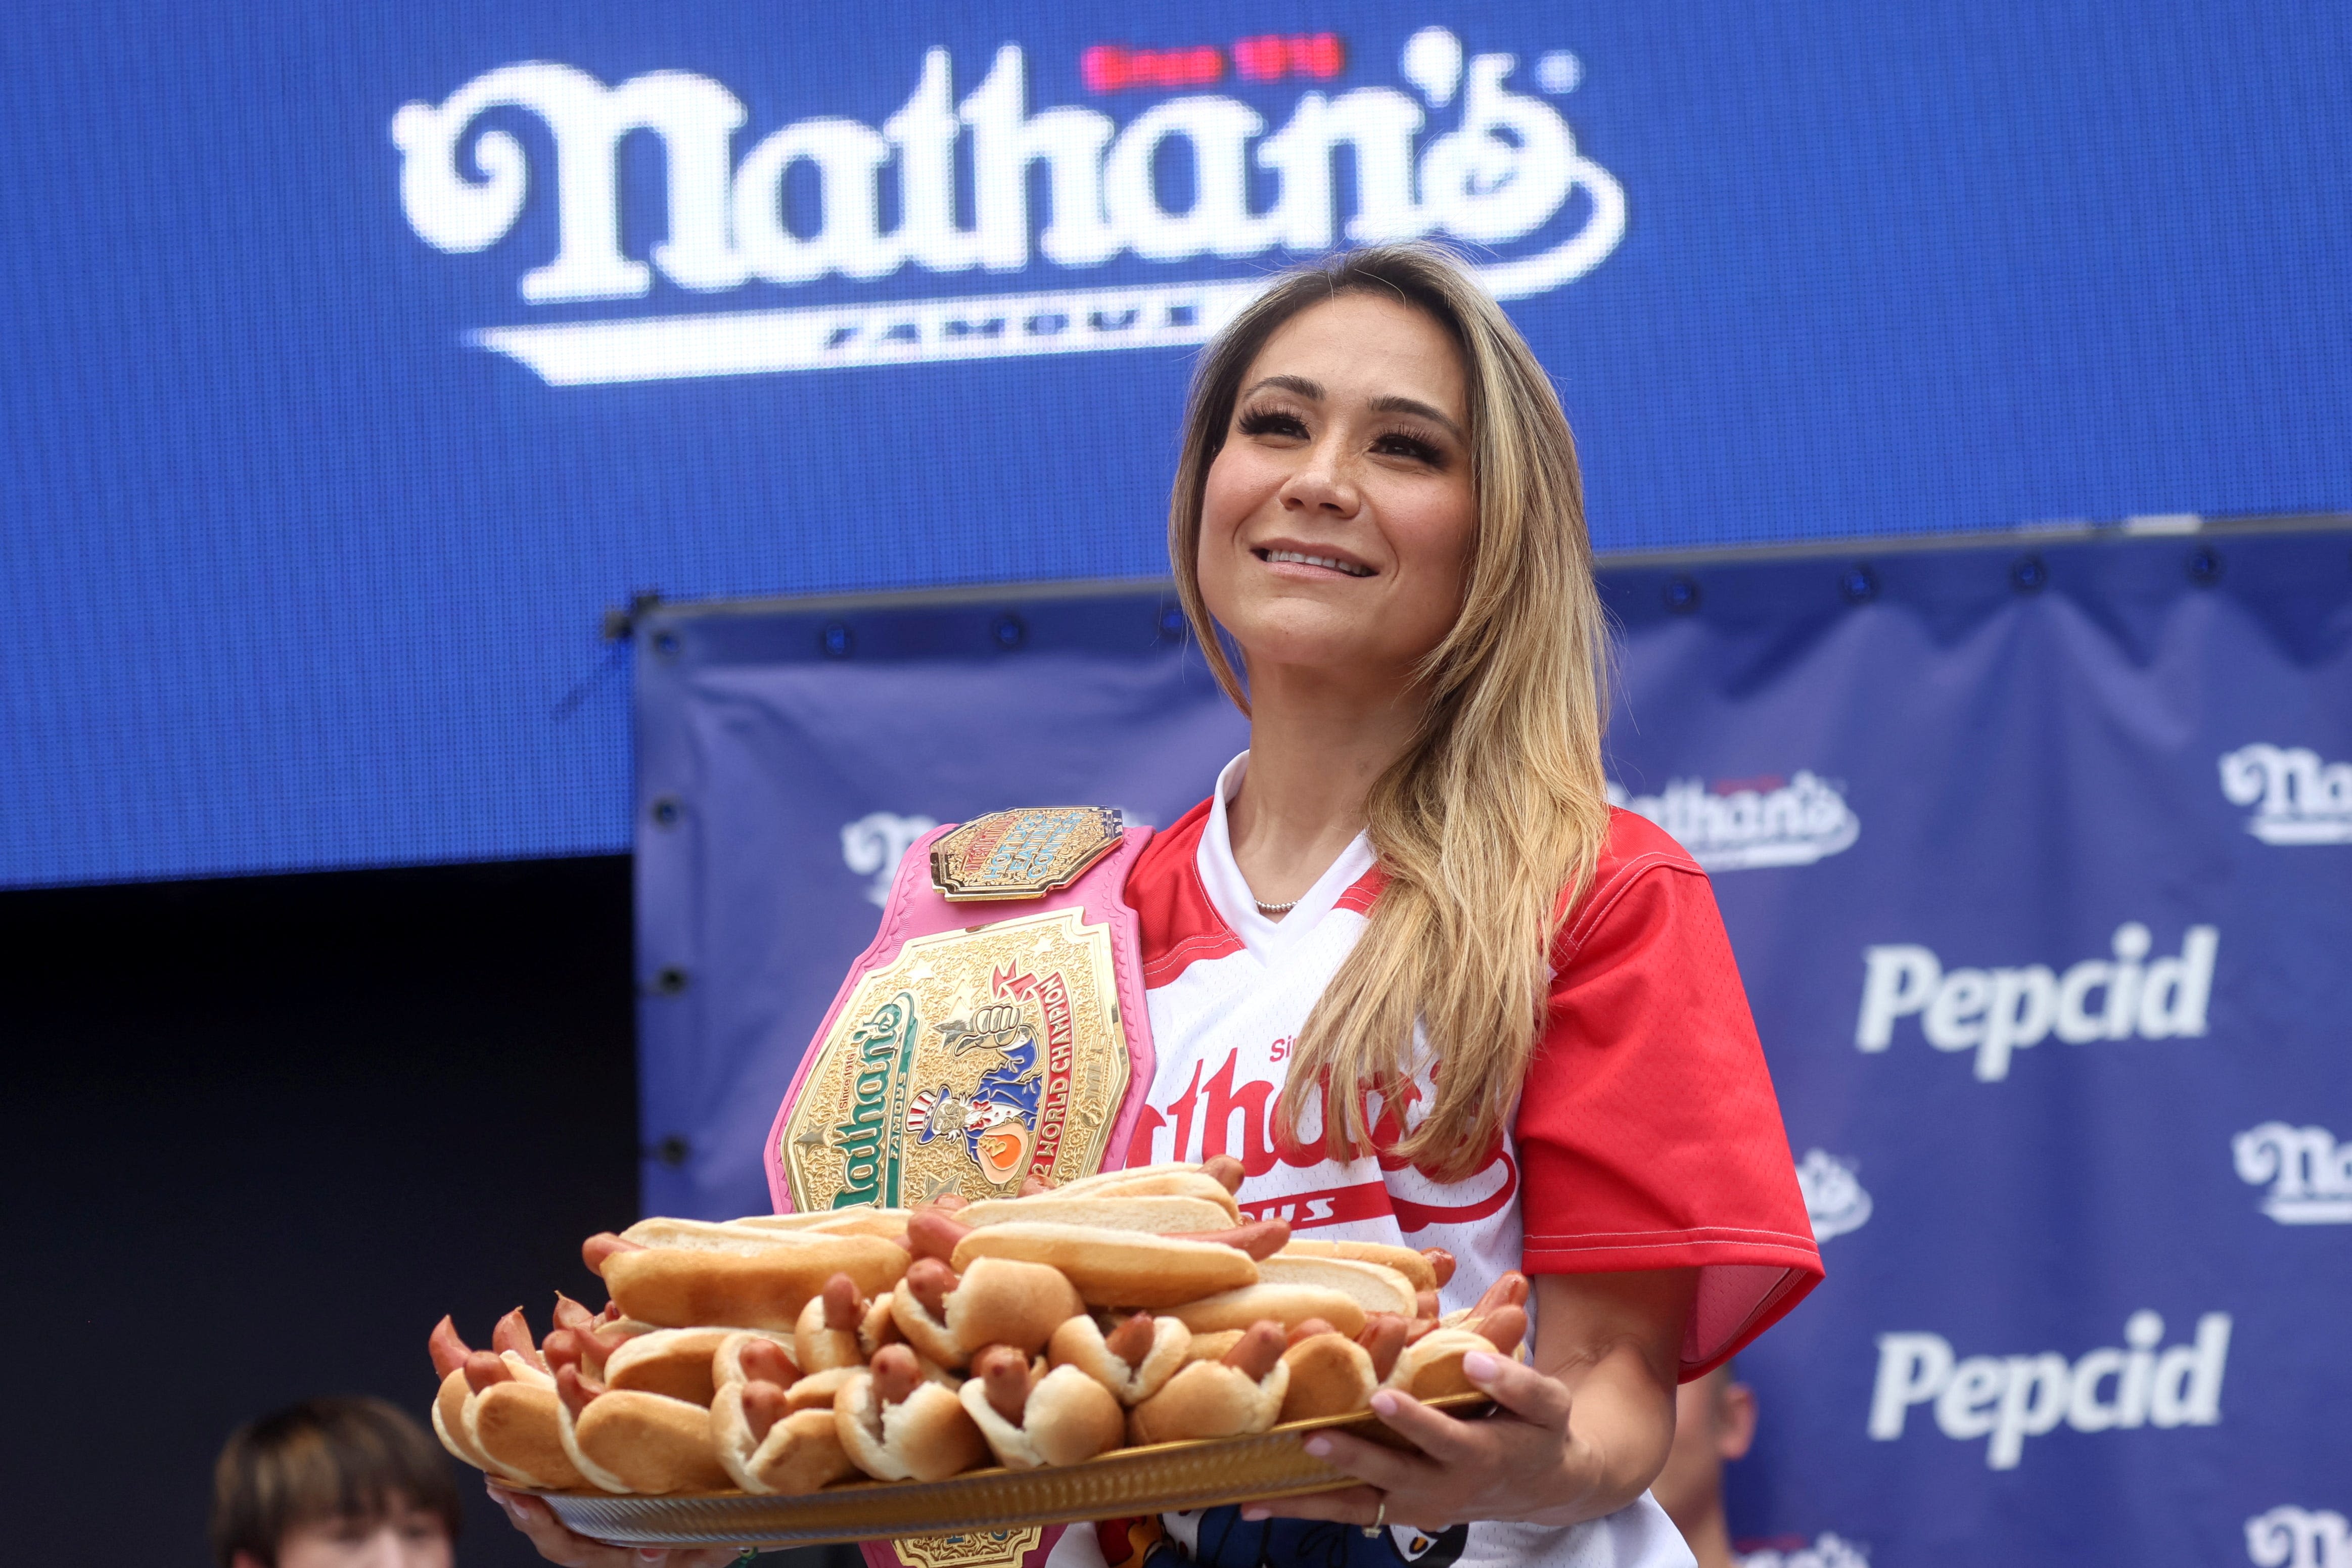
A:
{"type": "MultiPolygon", "coordinates": [[[[14,891],[0,954],[0,1559],[200,1563],[238,1422],[426,1420],[442,1312],[482,1345],[555,1288],[602,1305],[579,1244],[637,1218],[626,856],[14,891]]],[[[536,1563],[452,1467],[459,1563],[536,1563]]]]}

